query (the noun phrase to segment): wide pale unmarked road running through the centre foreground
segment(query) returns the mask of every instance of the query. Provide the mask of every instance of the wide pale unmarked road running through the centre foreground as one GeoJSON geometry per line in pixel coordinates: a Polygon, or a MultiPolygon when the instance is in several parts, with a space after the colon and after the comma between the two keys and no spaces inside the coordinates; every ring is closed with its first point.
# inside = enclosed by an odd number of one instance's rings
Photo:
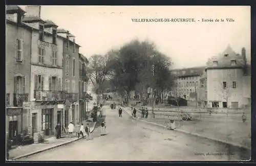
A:
{"type": "Polygon", "coordinates": [[[100,136],[99,128],[91,140],[81,139],[72,144],[35,154],[21,160],[101,160],[101,161],[170,161],[170,160],[240,160],[241,152],[213,141],[165,130],[161,127],[132,120],[123,111],[104,106],[108,135],[100,136]],[[207,155],[215,153],[215,155],[207,155]],[[219,153],[216,155],[216,153],[219,153]],[[231,153],[231,152],[230,152],[231,153]]]}

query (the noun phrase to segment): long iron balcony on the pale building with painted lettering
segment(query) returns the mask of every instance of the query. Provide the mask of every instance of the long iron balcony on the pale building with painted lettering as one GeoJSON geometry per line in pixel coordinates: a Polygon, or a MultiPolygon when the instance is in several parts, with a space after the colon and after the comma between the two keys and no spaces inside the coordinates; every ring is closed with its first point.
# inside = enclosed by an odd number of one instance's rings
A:
{"type": "Polygon", "coordinates": [[[65,91],[57,90],[34,90],[34,99],[36,101],[65,101],[65,91]]]}

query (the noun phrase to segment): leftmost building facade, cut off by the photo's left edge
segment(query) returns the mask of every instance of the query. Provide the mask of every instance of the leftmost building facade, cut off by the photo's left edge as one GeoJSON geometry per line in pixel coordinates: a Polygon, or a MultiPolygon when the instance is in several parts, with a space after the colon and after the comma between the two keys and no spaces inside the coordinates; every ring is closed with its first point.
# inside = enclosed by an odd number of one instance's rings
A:
{"type": "Polygon", "coordinates": [[[12,139],[27,132],[29,115],[23,109],[30,94],[32,28],[21,21],[25,11],[18,6],[6,8],[6,132],[12,139]]]}

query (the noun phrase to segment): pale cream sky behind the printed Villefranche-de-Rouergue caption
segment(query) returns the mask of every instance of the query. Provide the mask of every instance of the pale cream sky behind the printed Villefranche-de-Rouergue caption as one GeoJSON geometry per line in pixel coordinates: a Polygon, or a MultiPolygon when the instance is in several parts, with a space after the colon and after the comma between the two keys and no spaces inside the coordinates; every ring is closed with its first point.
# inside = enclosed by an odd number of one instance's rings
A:
{"type": "Polygon", "coordinates": [[[244,47],[250,61],[249,6],[41,6],[41,18],[75,35],[79,52],[86,57],[104,55],[133,39],[148,39],[172,58],[173,68],[203,66],[228,44],[238,54],[244,47]],[[194,18],[196,22],[132,21],[135,18],[194,18]]]}

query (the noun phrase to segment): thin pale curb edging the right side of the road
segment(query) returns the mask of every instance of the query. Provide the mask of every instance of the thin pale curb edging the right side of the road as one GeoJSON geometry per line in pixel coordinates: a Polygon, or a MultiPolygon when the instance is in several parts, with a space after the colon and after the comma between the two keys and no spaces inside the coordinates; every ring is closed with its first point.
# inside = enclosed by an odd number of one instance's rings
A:
{"type": "MultiPolygon", "coordinates": [[[[124,109],[124,110],[125,110],[126,113],[128,113],[126,111],[126,109],[124,109]]],[[[132,117],[132,118],[135,119],[134,117],[132,117]]],[[[148,123],[148,124],[152,124],[152,125],[156,125],[156,126],[165,128],[165,126],[160,125],[160,124],[156,124],[154,122],[147,122],[147,121],[144,121],[144,120],[140,120],[139,118],[136,118],[136,119],[141,121],[141,122],[144,122],[144,123],[148,123]]],[[[244,149],[247,149],[247,150],[251,150],[249,147],[246,147],[246,146],[243,146],[243,145],[239,145],[239,144],[235,144],[235,143],[230,143],[230,142],[225,141],[225,140],[221,140],[221,139],[217,139],[217,138],[212,138],[212,137],[208,137],[208,136],[197,134],[197,133],[192,133],[192,132],[184,131],[184,130],[181,130],[181,129],[175,129],[174,131],[178,131],[178,132],[182,132],[182,133],[198,136],[198,137],[201,137],[201,138],[206,138],[206,139],[209,139],[209,140],[214,140],[214,141],[217,141],[217,142],[220,142],[220,143],[223,143],[223,144],[227,144],[227,145],[231,145],[231,146],[234,146],[234,147],[239,147],[239,148],[244,148],[244,149]]]]}

